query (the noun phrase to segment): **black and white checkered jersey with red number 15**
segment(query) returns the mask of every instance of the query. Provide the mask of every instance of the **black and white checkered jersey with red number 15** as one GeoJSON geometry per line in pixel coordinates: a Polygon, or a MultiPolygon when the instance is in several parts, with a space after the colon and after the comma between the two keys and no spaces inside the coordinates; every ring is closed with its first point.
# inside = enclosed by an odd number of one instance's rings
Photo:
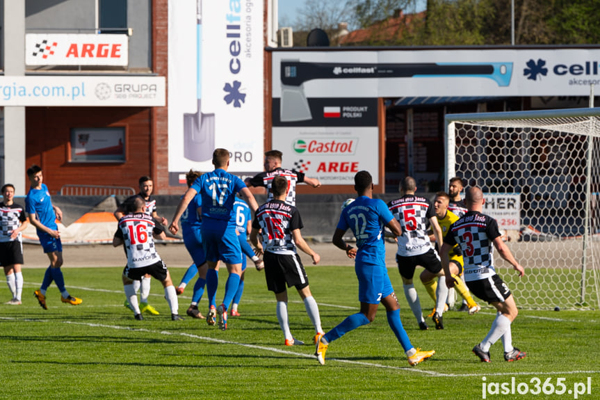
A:
{"type": "Polygon", "coordinates": [[[261,205],[252,221],[252,228],[261,230],[263,250],[276,254],[296,254],[291,232],[302,227],[298,209],[281,200],[261,205]]]}

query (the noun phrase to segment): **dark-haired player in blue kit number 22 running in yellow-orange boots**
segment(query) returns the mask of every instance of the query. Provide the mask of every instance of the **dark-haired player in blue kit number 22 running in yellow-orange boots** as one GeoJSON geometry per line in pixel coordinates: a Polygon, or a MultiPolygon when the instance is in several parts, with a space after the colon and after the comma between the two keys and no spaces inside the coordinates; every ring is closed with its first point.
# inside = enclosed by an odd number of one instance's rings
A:
{"type": "Polygon", "coordinates": [[[346,250],[346,255],[355,259],[355,272],[359,282],[360,311],[344,319],[338,326],[317,340],[318,362],[325,364],[325,351],[330,342],[339,339],[350,330],[366,325],[375,319],[379,303],[387,311],[387,321],[402,345],[410,365],[430,358],[435,351],[414,349],[400,321],[400,305],[391,287],[385,266],[384,226],[392,233],[400,235],[402,229],[391,214],[387,205],[373,199],[373,178],[367,171],[360,171],[354,177],[355,190],[359,197],[344,208],[333,235],[335,246],[346,250]],[[352,230],[357,240],[353,248],[343,240],[346,230],[352,230]]]}

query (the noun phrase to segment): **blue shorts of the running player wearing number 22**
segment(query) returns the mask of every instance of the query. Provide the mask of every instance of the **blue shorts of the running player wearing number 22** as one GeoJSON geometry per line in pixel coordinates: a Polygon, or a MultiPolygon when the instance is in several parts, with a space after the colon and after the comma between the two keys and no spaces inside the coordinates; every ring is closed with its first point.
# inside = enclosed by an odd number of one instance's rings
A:
{"type": "Polygon", "coordinates": [[[356,263],[355,272],[358,278],[358,300],[361,303],[379,304],[382,298],[394,293],[385,267],[356,263]]]}

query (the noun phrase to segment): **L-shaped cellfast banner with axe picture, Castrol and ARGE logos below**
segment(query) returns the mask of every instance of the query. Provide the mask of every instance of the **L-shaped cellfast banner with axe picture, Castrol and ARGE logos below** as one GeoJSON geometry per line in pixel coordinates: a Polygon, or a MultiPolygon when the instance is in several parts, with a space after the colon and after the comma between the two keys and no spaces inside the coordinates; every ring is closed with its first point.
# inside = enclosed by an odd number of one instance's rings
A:
{"type": "Polygon", "coordinates": [[[600,49],[273,51],[273,147],[284,167],[323,184],[353,184],[364,169],[378,183],[374,99],[587,96],[599,63],[600,49]],[[304,147],[349,138],[359,141],[353,152],[304,147]]]}

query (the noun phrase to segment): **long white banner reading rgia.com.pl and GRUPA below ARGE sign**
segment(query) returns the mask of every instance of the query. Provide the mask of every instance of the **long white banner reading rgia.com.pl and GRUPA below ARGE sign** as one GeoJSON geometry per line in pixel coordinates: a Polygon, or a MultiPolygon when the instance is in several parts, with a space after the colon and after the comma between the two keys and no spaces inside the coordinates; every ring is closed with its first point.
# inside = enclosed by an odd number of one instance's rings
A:
{"type": "Polygon", "coordinates": [[[165,77],[0,77],[0,106],[164,106],[165,77]]]}

